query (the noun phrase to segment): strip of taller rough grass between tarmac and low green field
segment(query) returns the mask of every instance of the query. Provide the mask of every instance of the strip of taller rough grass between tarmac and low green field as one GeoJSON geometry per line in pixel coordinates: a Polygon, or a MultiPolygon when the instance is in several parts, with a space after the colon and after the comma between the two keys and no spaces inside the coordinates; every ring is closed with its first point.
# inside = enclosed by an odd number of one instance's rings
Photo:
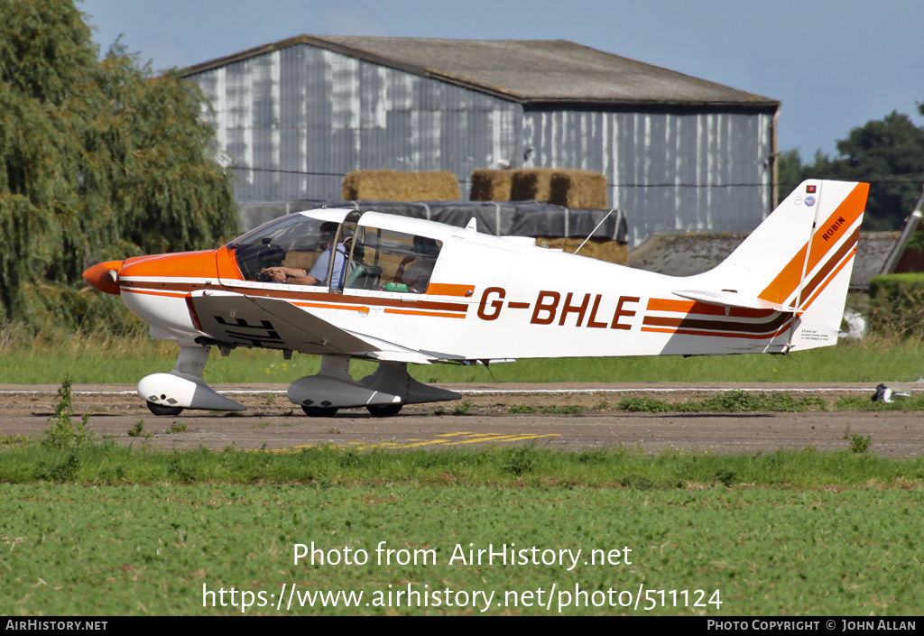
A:
{"type": "Polygon", "coordinates": [[[886,459],[865,453],[857,435],[852,450],[776,451],[717,455],[682,451],[649,455],[614,446],[570,452],[513,446],[481,450],[360,452],[310,447],[298,452],[154,452],[114,443],[69,449],[10,447],[3,451],[0,483],[87,485],[189,483],[302,483],[367,485],[407,483],[468,486],[626,487],[699,490],[738,487],[920,488],[924,459],[886,459]]]}

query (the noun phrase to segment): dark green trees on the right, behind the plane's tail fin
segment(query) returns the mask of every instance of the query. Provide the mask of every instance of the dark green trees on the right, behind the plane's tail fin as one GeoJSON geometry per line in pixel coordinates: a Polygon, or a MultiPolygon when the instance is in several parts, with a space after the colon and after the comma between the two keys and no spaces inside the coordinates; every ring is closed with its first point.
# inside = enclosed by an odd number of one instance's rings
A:
{"type": "MultiPolygon", "coordinates": [[[[918,105],[924,115],[924,105],[918,105]]],[[[803,165],[796,151],[780,156],[781,194],[805,178],[869,182],[863,226],[870,230],[898,229],[905,223],[924,186],[924,128],[910,117],[892,114],[853,128],[837,142],[838,156],[817,153],[803,165]]]]}

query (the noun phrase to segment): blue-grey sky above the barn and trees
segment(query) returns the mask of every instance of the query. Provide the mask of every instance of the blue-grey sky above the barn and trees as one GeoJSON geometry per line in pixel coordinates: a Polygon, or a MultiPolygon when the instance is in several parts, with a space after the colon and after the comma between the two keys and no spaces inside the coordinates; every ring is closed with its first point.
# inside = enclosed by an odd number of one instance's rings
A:
{"type": "Polygon", "coordinates": [[[892,111],[918,126],[920,0],[84,0],[103,52],[155,70],[299,35],[569,40],[783,103],[803,161],[892,111]]]}

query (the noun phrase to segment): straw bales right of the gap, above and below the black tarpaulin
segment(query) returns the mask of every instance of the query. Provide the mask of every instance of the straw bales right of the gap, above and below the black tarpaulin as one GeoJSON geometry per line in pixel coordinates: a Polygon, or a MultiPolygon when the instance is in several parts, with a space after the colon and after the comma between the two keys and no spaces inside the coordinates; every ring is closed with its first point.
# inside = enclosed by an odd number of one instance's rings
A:
{"type": "MultiPolygon", "coordinates": [[[[538,201],[575,210],[606,210],[606,177],[590,170],[520,168],[475,170],[471,175],[471,201],[538,201]]],[[[540,245],[574,252],[582,237],[536,237],[540,245]]],[[[608,263],[628,264],[628,246],[612,239],[590,239],[581,249],[608,263]]]]}

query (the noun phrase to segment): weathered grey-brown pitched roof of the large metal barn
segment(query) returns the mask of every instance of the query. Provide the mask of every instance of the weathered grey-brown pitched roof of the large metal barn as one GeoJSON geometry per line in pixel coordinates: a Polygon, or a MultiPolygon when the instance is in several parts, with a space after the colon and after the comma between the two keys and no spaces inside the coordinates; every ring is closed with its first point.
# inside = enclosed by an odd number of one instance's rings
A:
{"type": "Polygon", "coordinates": [[[780,104],[767,97],[565,40],[298,35],[188,67],[183,74],[195,75],[298,44],[442,79],[524,104],[714,104],[774,108],[780,104]]]}

